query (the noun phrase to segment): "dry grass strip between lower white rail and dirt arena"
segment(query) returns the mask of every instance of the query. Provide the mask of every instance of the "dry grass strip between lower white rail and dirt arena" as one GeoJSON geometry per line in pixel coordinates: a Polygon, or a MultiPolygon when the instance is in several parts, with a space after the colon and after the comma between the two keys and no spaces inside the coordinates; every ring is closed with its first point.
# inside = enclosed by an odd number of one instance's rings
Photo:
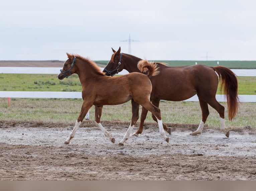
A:
{"type": "MultiPolygon", "coordinates": [[[[82,99],[32,99],[32,98],[11,98],[11,106],[7,106],[7,98],[0,98],[0,121],[7,122],[29,122],[46,121],[52,123],[75,124],[82,106],[82,99]]],[[[228,116],[226,102],[225,116],[228,116]]],[[[195,101],[161,101],[162,121],[169,123],[194,123],[201,121],[201,109],[199,102],[195,101]],[[187,112],[189,110],[189,112],[187,112]]],[[[206,124],[209,128],[220,128],[220,117],[215,109],[209,106],[210,115],[206,124]]],[[[141,114],[141,107],[140,112],[141,114]]],[[[256,103],[240,103],[236,117],[229,121],[226,119],[226,126],[229,128],[251,127],[256,130],[256,103]]],[[[90,120],[94,120],[94,106],[90,109],[90,120]]],[[[131,101],[120,105],[105,105],[101,120],[108,121],[130,121],[131,101]]],[[[146,122],[154,122],[151,113],[148,112],[146,122]]],[[[136,123],[138,127],[140,119],[136,123]]]]}

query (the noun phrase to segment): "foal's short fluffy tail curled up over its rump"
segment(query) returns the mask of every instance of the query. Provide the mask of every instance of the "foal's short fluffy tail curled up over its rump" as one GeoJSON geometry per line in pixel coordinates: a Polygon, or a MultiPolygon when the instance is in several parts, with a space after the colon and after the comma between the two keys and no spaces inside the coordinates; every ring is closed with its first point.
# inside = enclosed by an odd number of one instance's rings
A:
{"type": "Polygon", "coordinates": [[[137,64],[137,68],[142,73],[147,73],[147,76],[156,76],[159,74],[159,68],[157,68],[157,64],[154,62],[148,62],[147,60],[141,60],[137,64]]]}

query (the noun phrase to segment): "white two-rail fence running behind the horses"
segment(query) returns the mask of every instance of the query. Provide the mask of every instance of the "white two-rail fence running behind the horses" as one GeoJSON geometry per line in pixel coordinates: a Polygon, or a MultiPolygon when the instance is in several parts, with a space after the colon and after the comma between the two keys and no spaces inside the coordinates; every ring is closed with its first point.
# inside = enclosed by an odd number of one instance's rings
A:
{"type": "MultiPolygon", "coordinates": [[[[60,68],[38,67],[0,67],[0,74],[59,74],[60,68]]],[[[103,70],[103,68],[102,68],[103,70]]],[[[232,69],[237,76],[256,76],[256,70],[232,69]]],[[[119,73],[128,74],[126,70],[119,73]]],[[[0,97],[12,98],[82,98],[81,92],[23,92],[23,91],[0,91],[0,97]]],[[[239,95],[241,102],[256,102],[256,95],[239,95]]],[[[218,101],[226,101],[225,95],[216,95],[218,101]]],[[[197,95],[184,101],[198,101],[197,95]]]]}

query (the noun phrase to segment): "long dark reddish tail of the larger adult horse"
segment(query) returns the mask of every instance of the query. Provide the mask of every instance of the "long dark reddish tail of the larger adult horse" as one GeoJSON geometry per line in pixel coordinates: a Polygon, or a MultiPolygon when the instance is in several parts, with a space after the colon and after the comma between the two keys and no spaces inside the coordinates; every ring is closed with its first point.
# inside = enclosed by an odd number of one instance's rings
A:
{"type": "Polygon", "coordinates": [[[227,97],[229,120],[232,120],[233,117],[236,116],[239,106],[236,75],[229,68],[224,66],[215,66],[212,68],[219,75],[219,81],[221,82],[220,90],[222,90],[224,86],[224,94],[227,97]]]}

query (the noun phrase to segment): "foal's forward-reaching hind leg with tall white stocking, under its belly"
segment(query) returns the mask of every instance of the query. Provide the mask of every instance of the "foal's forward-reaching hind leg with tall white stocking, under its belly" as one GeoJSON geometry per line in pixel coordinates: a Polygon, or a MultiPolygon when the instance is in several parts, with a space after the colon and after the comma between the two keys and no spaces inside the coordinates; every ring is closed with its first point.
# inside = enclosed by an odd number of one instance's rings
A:
{"type": "Polygon", "coordinates": [[[134,128],[135,123],[139,119],[139,107],[140,107],[140,104],[135,102],[132,99],[132,120],[131,120],[131,124],[130,124],[129,128],[126,131],[126,133],[124,135],[124,138],[119,142],[119,144],[118,144],[119,146],[124,145],[124,142],[126,140],[128,140],[128,138],[129,138],[129,136],[131,134],[131,131],[134,128]]]}

